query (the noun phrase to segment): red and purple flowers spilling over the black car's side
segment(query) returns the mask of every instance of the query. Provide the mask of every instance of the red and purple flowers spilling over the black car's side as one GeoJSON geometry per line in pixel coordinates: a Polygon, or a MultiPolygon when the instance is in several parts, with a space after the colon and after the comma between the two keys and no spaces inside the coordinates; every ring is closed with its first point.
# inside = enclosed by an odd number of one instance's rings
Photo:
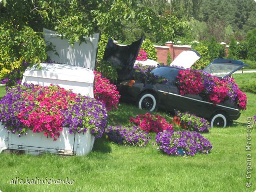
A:
{"type": "Polygon", "coordinates": [[[182,96],[202,93],[215,105],[230,99],[235,101],[240,109],[246,109],[246,94],[238,88],[232,77],[220,80],[201,70],[186,69],[179,71],[177,79],[182,96]]]}

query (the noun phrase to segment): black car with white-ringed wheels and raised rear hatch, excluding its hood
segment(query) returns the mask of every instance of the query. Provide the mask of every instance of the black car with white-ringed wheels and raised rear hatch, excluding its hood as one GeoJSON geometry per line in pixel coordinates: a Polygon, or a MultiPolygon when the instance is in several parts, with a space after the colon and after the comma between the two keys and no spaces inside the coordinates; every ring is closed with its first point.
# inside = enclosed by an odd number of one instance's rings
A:
{"type": "MultiPolygon", "coordinates": [[[[236,70],[246,66],[237,60],[217,59],[209,64],[204,71],[213,76],[224,78],[236,70]]],[[[149,111],[161,108],[164,110],[190,111],[197,116],[211,122],[211,127],[225,127],[237,120],[240,116],[239,108],[235,102],[226,100],[217,105],[208,102],[202,94],[182,96],[180,94],[177,75],[179,67],[159,66],[152,70],[154,75],[168,79],[167,83],[142,82],[139,80],[125,80],[117,85],[121,98],[136,101],[140,109],[149,111]]]]}

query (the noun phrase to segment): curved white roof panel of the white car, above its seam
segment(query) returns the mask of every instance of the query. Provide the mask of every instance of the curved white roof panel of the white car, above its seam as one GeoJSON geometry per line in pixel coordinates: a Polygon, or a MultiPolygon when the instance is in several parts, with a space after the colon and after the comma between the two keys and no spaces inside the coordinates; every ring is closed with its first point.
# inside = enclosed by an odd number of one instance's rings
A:
{"type": "Polygon", "coordinates": [[[93,70],[68,64],[41,64],[41,69],[34,65],[25,70],[24,76],[84,83],[94,82],[93,70]]]}

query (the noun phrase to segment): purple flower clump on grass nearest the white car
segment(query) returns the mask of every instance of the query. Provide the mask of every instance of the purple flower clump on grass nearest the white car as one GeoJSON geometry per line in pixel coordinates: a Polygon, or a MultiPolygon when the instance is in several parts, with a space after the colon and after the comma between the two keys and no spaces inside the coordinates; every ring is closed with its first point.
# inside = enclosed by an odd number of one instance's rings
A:
{"type": "Polygon", "coordinates": [[[144,147],[150,137],[138,127],[111,126],[106,128],[108,138],[118,144],[144,147]]]}

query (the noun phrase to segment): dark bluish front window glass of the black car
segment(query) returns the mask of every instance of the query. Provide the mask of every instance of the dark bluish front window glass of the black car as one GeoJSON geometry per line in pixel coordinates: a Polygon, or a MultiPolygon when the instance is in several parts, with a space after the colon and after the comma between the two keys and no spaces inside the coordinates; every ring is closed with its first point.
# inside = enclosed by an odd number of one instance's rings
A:
{"type": "Polygon", "coordinates": [[[164,77],[168,79],[168,81],[172,81],[173,79],[176,79],[179,69],[174,67],[162,66],[162,67],[155,68],[151,72],[154,75],[158,75],[160,77],[164,77]]]}

